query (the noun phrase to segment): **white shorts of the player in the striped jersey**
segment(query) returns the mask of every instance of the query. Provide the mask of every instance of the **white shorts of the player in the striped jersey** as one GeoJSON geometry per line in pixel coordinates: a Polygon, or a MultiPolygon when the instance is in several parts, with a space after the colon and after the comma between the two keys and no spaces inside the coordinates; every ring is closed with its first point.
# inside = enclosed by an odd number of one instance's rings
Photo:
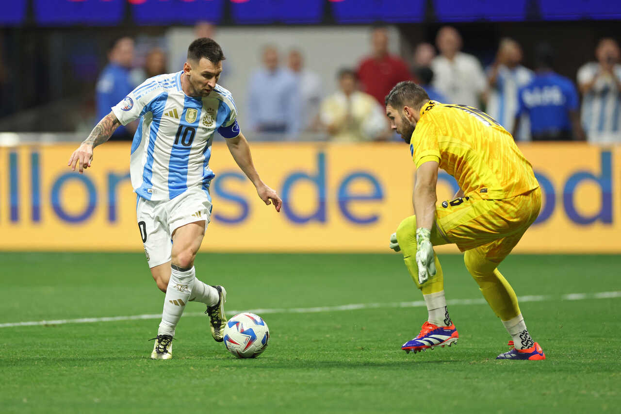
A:
{"type": "Polygon", "coordinates": [[[211,219],[211,196],[201,187],[188,188],[173,200],[151,201],[138,197],[136,205],[138,229],[149,267],[171,260],[173,232],[195,221],[211,219]]]}

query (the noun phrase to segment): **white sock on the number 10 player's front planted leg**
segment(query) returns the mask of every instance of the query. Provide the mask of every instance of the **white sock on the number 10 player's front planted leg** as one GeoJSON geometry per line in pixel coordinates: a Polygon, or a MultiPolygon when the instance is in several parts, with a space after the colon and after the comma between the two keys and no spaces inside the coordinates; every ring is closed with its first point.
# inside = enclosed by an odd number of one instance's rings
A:
{"type": "Polygon", "coordinates": [[[175,267],[171,269],[158,335],[175,336],[175,328],[189,301],[195,278],[194,266],[184,271],[176,270],[175,267]]]}

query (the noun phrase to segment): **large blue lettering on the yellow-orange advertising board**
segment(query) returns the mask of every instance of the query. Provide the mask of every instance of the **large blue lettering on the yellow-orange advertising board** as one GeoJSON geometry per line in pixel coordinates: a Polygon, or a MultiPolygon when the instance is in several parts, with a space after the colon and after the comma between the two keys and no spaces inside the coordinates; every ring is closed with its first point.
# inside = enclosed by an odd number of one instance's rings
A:
{"type": "MultiPolygon", "coordinates": [[[[535,176],[542,186],[545,195],[543,209],[535,224],[544,223],[553,214],[557,207],[556,195],[558,191],[561,191],[564,213],[573,223],[587,225],[599,221],[603,224],[612,224],[612,153],[609,150],[601,150],[599,155],[599,172],[597,171],[598,168],[595,168],[595,171],[575,171],[567,178],[566,182],[564,182],[563,188],[555,188],[550,178],[544,173],[537,172],[535,168],[535,176]],[[578,186],[584,182],[592,182],[599,186],[601,190],[599,209],[590,215],[580,213],[578,209],[576,209],[574,203],[574,193],[578,186]]],[[[20,221],[19,204],[21,189],[19,188],[18,180],[20,160],[17,152],[8,152],[8,158],[10,219],[12,222],[17,222],[20,221]]],[[[40,185],[41,170],[39,152],[31,152],[26,162],[29,162],[31,175],[29,188],[31,191],[30,200],[32,203],[30,206],[30,219],[33,222],[36,223],[41,220],[40,210],[42,196],[49,197],[54,213],[58,216],[58,219],[66,223],[81,223],[88,220],[97,208],[98,203],[101,203],[101,200],[106,200],[107,220],[111,223],[117,220],[117,187],[125,180],[129,180],[129,173],[107,173],[107,188],[105,189],[97,188],[93,180],[87,175],[78,175],[75,172],[62,173],[53,179],[53,185],[49,195],[43,195],[40,185]],[[70,182],[76,182],[83,186],[84,192],[88,195],[88,203],[84,206],[83,211],[70,213],[66,211],[61,203],[61,190],[63,186],[70,182]]],[[[326,190],[327,173],[326,154],[323,151],[317,151],[315,154],[314,171],[293,170],[284,175],[278,190],[284,201],[284,213],[291,223],[304,224],[311,221],[326,223],[329,220],[326,205],[332,200],[326,190]],[[291,202],[292,189],[301,182],[310,183],[315,188],[317,207],[315,211],[311,213],[296,211],[295,206],[291,202]]],[[[247,201],[248,195],[235,193],[235,191],[229,188],[231,182],[243,182],[243,180],[245,180],[243,174],[236,170],[224,170],[214,179],[212,182],[212,191],[214,191],[215,195],[238,205],[237,214],[226,214],[224,211],[219,211],[214,214],[215,220],[224,224],[235,225],[242,223],[248,218],[250,213],[250,204],[247,201]]],[[[448,174],[441,173],[438,180],[448,183],[453,190],[457,190],[457,183],[448,174]]],[[[343,175],[337,188],[333,200],[337,202],[338,211],[340,211],[343,218],[353,224],[359,225],[373,224],[378,221],[381,210],[366,215],[360,215],[352,211],[351,208],[353,203],[377,202],[384,199],[385,191],[383,185],[373,173],[365,170],[351,170],[343,175]],[[371,191],[364,193],[352,191],[351,186],[356,182],[366,183],[371,191]]]]}

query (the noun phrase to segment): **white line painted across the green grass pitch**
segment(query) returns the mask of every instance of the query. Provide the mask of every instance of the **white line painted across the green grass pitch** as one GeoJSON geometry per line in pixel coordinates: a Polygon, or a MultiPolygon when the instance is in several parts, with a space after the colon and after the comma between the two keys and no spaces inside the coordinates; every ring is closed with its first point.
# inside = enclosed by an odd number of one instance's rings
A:
{"type": "MultiPolygon", "coordinates": [[[[621,298],[621,291],[617,292],[598,292],[598,293],[569,293],[561,297],[552,297],[550,295],[529,295],[518,297],[518,300],[524,302],[540,302],[553,300],[584,300],[584,299],[610,299],[621,298]]],[[[446,305],[484,305],[487,303],[484,298],[478,299],[449,299],[446,305]]],[[[350,305],[338,306],[316,306],[314,308],[265,308],[245,310],[258,315],[266,315],[270,313],[319,313],[333,311],[347,311],[358,309],[377,309],[377,308],[420,308],[425,306],[425,301],[417,300],[412,302],[389,302],[389,303],[351,303],[350,305]]],[[[239,310],[228,311],[229,315],[236,315],[239,310]]],[[[202,316],[203,312],[187,312],[183,316],[202,316]]],[[[45,325],[61,325],[67,323],[97,323],[97,322],[116,322],[116,321],[135,321],[142,319],[160,319],[159,314],[132,315],[132,316],[104,316],[103,318],[79,318],[79,319],[60,319],[53,321],[28,321],[28,322],[9,322],[0,323],[0,328],[12,328],[14,326],[45,326],[45,325]]]]}

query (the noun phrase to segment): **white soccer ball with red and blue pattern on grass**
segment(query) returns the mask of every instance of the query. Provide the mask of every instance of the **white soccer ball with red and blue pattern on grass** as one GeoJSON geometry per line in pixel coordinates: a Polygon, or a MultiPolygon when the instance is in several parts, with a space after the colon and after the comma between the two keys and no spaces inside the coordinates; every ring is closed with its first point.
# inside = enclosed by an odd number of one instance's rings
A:
{"type": "Polygon", "coordinates": [[[270,328],[261,316],[244,312],[233,316],[224,327],[224,346],[238,358],[255,358],[265,351],[270,328]]]}

